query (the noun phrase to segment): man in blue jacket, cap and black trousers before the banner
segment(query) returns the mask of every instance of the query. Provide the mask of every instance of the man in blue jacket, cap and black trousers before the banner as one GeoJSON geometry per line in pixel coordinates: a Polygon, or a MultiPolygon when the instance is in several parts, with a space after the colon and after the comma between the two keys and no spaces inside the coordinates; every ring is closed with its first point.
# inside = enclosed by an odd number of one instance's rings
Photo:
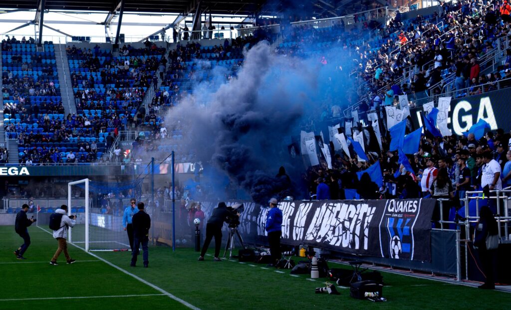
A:
{"type": "Polygon", "coordinates": [[[269,267],[274,267],[282,258],[281,236],[282,236],[282,211],[278,209],[278,201],[271,198],[269,201],[270,211],[266,216],[266,231],[268,232],[268,243],[270,243],[271,261],[269,267]]]}

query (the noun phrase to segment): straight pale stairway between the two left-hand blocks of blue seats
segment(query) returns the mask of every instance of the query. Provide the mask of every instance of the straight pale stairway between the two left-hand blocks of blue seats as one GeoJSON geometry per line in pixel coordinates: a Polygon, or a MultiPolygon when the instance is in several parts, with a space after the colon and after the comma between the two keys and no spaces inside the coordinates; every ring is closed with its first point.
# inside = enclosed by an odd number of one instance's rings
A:
{"type": "Polygon", "coordinates": [[[55,45],[55,61],[59,74],[60,96],[62,97],[62,105],[64,106],[64,115],[74,114],[76,113],[75,96],[71,84],[71,73],[69,72],[69,65],[67,64],[65,44],[55,45]]]}

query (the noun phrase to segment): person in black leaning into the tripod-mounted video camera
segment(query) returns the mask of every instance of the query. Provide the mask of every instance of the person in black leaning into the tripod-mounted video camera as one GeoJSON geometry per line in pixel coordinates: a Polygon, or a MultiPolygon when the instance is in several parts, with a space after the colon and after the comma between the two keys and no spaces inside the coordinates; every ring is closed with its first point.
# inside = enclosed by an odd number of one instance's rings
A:
{"type": "Polygon", "coordinates": [[[211,239],[215,237],[215,257],[213,260],[221,261],[218,255],[220,254],[220,246],[222,245],[222,226],[228,217],[237,218],[239,215],[239,213],[228,210],[224,202],[218,204],[218,207],[213,210],[213,213],[207,220],[206,239],[204,240],[199,260],[204,260],[204,255],[206,254],[207,248],[210,246],[211,239]]]}

